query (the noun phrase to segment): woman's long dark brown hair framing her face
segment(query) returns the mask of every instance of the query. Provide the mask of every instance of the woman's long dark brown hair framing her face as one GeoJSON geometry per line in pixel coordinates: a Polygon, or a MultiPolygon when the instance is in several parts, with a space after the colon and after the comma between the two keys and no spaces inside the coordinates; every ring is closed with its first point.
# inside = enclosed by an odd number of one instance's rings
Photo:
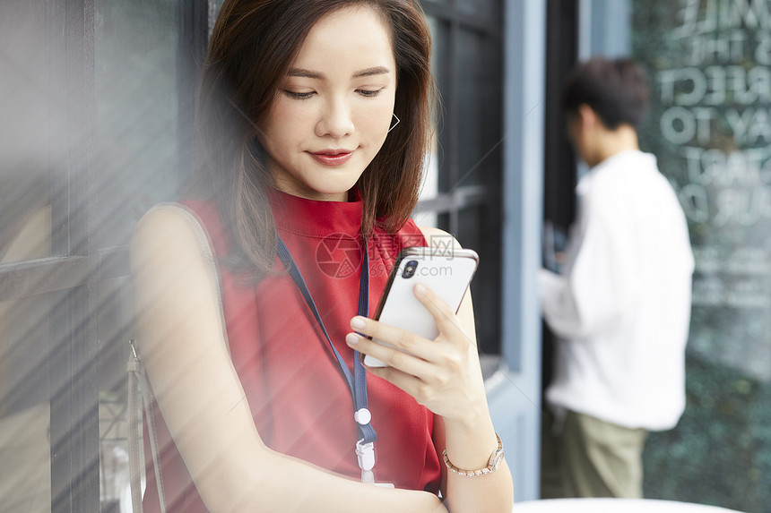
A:
{"type": "Polygon", "coordinates": [[[411,0],[226,0],[204,62],[196,111],[197,167],[188,193],[212,199],[231,235],[229,262],[259,280],[273,267],[273,178],[256,126],[268,114],[309,30],[325,14],[370,7],[390,26],[399,127],[357,184],[361,235],[403,226],[418,200],[432,130],[434,82],[425,15],[411,0]]]}

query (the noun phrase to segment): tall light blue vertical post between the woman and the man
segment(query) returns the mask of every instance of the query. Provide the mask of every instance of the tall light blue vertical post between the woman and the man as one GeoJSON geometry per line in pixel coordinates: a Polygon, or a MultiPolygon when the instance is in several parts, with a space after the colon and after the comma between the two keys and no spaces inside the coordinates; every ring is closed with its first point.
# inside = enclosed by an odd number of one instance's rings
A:
{"type": "Polygon", "coordinates": [[[503,355],[521,415],[515,448],[517,500],[538,497],[541,398],[541,314],[536,294],[541,267],[543,91],[546,9],[541,0],[506,2],[503,355]],[[523,443],[524,442],[524,443],[523,443]]]}

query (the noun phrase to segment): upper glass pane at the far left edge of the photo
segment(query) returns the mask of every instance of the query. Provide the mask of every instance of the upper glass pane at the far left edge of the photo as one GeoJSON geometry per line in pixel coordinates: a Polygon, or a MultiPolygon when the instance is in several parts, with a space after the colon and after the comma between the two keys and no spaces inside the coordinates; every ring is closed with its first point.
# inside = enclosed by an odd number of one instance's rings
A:
{"type": "Polygon", "coordinates": [[[51,254],[46,2],[0,4],[0,262],[51,254]]]}

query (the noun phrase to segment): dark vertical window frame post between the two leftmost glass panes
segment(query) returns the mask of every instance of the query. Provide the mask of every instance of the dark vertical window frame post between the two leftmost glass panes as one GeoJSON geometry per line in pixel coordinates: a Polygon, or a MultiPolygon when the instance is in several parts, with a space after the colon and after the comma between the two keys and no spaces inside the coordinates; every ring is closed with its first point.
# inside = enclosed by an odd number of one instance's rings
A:
{"type": "Polygon", "coordinates": [[[65,130],[52,136],[63,144],[57,172],[68,177],[68,250],[85,256],[93,269],[86,285],[57,302],[52,315],[51,510],[81,513],[98,511],[100,500],[94,0],[49,5],[49,22],[58,24],[56,15],[64,22],[61,36],[54,36],[62,40],[52,41],[51,47],[64,43],[62,64],[52,80],[64,90],[65,130]]]}

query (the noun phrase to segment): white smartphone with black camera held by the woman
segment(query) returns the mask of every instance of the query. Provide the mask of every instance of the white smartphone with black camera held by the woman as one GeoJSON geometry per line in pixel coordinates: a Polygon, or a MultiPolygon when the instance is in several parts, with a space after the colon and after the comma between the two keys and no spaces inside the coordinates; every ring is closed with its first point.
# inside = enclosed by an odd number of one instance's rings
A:
{"type": "MultiPolygon", "coordinates": [[[[394,269],[391,269],[373,319],[429,340],[437,338],[437,324],[415,297],[413,287],[418,283],[429,287],[457,312],[478,265],[479,255],[473,250],[446,247],[403,249],[396,258],[394,269]]],[[[370,367],[385,367],[385,363],[370,355],[364,356],[364,363],[370,367]]]]}

